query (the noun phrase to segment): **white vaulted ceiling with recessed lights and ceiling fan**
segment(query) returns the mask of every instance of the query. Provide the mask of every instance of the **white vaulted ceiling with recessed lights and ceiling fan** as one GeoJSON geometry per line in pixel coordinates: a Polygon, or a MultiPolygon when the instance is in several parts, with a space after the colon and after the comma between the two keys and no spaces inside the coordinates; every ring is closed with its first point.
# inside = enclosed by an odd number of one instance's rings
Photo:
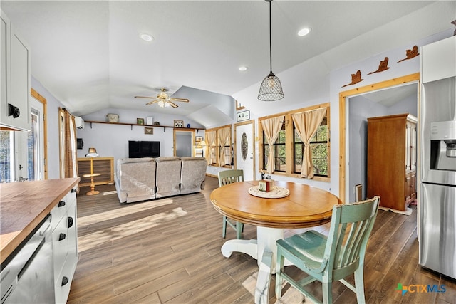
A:
{"type": "MultiPolygon", "coordinates": [[[[280,73],[432,2],[273,1],[272,69],[280,73]],[[297,36],[304,26],[311,27],[309,36],[297,36]]],[[[229,96],[269,73],[269,4],[263,0],[1,1],[0,6],[31,46],[33,77],[75,115],[120,108],[191,116],[230,102],[229,96]],[[140,33],[155,40],[142,41],[140,33]],[[249,69],[239,72],[241,65],[249,69]],[[154,96],[163,86],[190,103],[160,109],[133,98],[154,96]],[[221,94],[220,101],[213,93],[221,94]]],[[[416,31],[413,24],[404,26],[416,31]]]]}

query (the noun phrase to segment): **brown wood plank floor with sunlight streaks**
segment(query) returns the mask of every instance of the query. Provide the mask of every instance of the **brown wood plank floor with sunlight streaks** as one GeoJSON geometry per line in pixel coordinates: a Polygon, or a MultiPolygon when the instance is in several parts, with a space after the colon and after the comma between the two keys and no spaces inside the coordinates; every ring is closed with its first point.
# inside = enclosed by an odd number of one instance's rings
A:
{"type": "MultiPolygon", "coordinates": [[[[120,204],[113,185],[100,194],[78,194],[79,261],[68,303],[253,303],[257,261],[244,253],[224,258],[220,247],[222,216],[209,201],[217,179],[207,177],[204,191],[137,204],[120,204]],[[110,194],[111,193],[111,194],[110,194]]],[[[326,226],[317,228],[326,231],[326,226]]],[[[300,231],[286,231],[286,236],[300,231]]],[[[228,229],[227,239],[235,231],[228,229]]],[[[255,239],[245,225],[244,239],[255,239]]],[[[367,303],[456,303],[456,282],[418,265],[416,210],[411,216],[378,211],[365,267],[367,303]],[[445,285],[445,293],[405,293],[402,285],[445,285]]],[[[303,276],[294,266],[291,276],[303,276]]],[[[304,303],[286,285],[270,303],[304,303]]],[[[309,285],[321,297],[321,284],[309,285]]],[[[412,288],[420,290],[420,288],[412,288]]],[[[341,283],[335,303],[356,303],[341,283]]],[[[306,300],[309,303],[309,300],[306,300]]]]}

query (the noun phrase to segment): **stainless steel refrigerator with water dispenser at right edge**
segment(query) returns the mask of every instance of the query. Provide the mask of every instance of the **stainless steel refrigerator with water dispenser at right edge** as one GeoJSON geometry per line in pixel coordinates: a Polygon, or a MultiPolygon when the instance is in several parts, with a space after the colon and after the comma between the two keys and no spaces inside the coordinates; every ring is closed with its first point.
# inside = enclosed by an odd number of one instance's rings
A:
{"type": "Polygon", "coordinates": [[[419,263],[456,278],[456,77],[421,94],[419,263]]]}

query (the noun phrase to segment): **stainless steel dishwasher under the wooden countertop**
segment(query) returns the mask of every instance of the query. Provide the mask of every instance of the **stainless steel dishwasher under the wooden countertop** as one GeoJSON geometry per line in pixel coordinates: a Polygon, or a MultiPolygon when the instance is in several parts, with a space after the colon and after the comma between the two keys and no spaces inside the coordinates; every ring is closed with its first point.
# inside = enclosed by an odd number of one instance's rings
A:
{"type": "Polygon", "coordinates": [[[1,264],[1,304],[55,303],[51,215],[1,264]]]}

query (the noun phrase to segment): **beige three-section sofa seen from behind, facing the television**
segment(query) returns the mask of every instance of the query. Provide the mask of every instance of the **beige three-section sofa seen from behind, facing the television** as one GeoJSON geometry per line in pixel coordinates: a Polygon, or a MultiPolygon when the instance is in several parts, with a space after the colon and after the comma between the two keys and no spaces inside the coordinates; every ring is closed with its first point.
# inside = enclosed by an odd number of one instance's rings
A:
{"type": "Polygon", "coordinates": [[[204,157],[118,159],[114,174],[120,203],[132,203],[204,189],[204,157]]]}

